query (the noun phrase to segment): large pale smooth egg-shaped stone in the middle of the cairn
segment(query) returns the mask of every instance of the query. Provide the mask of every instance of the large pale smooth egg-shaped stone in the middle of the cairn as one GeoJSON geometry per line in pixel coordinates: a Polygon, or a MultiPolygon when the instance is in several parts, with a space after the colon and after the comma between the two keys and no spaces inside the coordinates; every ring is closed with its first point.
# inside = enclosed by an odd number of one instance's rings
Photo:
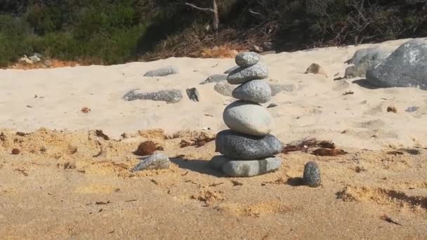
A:
{"type": "Polygon", "coordinates": [[[274,120],[265,107],[254,102],[236,101],[225,107],[225,125],[237,133],[262,136],[274,127],[274,120]]]}

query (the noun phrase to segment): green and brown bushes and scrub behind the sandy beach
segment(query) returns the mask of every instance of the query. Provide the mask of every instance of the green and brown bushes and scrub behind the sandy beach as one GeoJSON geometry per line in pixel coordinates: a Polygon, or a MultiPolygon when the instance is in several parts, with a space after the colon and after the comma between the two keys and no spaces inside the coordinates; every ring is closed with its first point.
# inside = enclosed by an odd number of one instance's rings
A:
{"type": "Polygon", "coordinates": [[[206,52],[214,46],[242,50],[265,41],[277,51],[294,51],[416,36],[427,36],[427,1],[0,1],[1,66],[34,52],[115,64],[216,56],[206,52]]]}

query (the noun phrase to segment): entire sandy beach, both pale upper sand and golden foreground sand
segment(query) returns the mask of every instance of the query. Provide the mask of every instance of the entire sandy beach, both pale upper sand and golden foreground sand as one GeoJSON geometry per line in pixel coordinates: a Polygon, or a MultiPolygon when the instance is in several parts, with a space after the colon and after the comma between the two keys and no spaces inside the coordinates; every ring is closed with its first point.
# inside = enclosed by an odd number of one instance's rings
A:
{"type": "Polygon", "coordinates": [[[427,92],[334,81],[369,46],[263,56],[268,81],[296,86],[265,104],[278,105],[269,109],[272,133],[285,144],[331,140],[348,154],[281,154],[280,171],[254,178],[211,171],[214,142],[180,147],[226,128],[221,116],[232,98],[199,82],[235,65],[232,59],[0,70],[1,239],[425,239],[427,92]],[[327,78],[304,74],[313,62],[327,78]],[[143,77],[166,65],[180,74],[143,77]],[[186,95],[176,104],[121,100],[134,88],[185,94],[192,87],[200,102],[186,95]],[[171,169],[130,171],[145,140],[164,148],[171,169]],[[310,160],[320,165],[321,187],[298,184],[310,160]]]}

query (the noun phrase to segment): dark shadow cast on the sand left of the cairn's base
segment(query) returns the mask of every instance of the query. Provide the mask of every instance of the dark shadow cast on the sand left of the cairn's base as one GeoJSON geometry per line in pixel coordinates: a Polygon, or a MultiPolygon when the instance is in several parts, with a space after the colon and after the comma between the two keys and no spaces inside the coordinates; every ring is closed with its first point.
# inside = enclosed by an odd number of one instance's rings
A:
{"type": "Polygon", "coordinates": [[[173,164],[178,165],[179,168],[187,169],[197,173],[212,175],[217,178],[227,177],[227,175],[225,175],[221,171],[211,168],[211,166],[209,166],[209,161],[199,159],[184,160],[179,158],[171,158],[171,162],[173,162],[173,164]]]}

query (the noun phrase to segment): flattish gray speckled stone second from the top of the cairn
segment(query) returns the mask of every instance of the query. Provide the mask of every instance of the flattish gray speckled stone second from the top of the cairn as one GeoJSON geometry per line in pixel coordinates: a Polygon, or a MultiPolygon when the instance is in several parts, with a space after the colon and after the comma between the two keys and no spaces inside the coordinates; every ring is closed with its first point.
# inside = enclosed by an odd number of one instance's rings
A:
{"type": "Polygon", "coordinates": [[[229,84],[244,84],[247,81],[265,79],[268,77],[268,69],[261,63],[251,67],[239,67],[230,72],[227,77],[229,84]]]}

